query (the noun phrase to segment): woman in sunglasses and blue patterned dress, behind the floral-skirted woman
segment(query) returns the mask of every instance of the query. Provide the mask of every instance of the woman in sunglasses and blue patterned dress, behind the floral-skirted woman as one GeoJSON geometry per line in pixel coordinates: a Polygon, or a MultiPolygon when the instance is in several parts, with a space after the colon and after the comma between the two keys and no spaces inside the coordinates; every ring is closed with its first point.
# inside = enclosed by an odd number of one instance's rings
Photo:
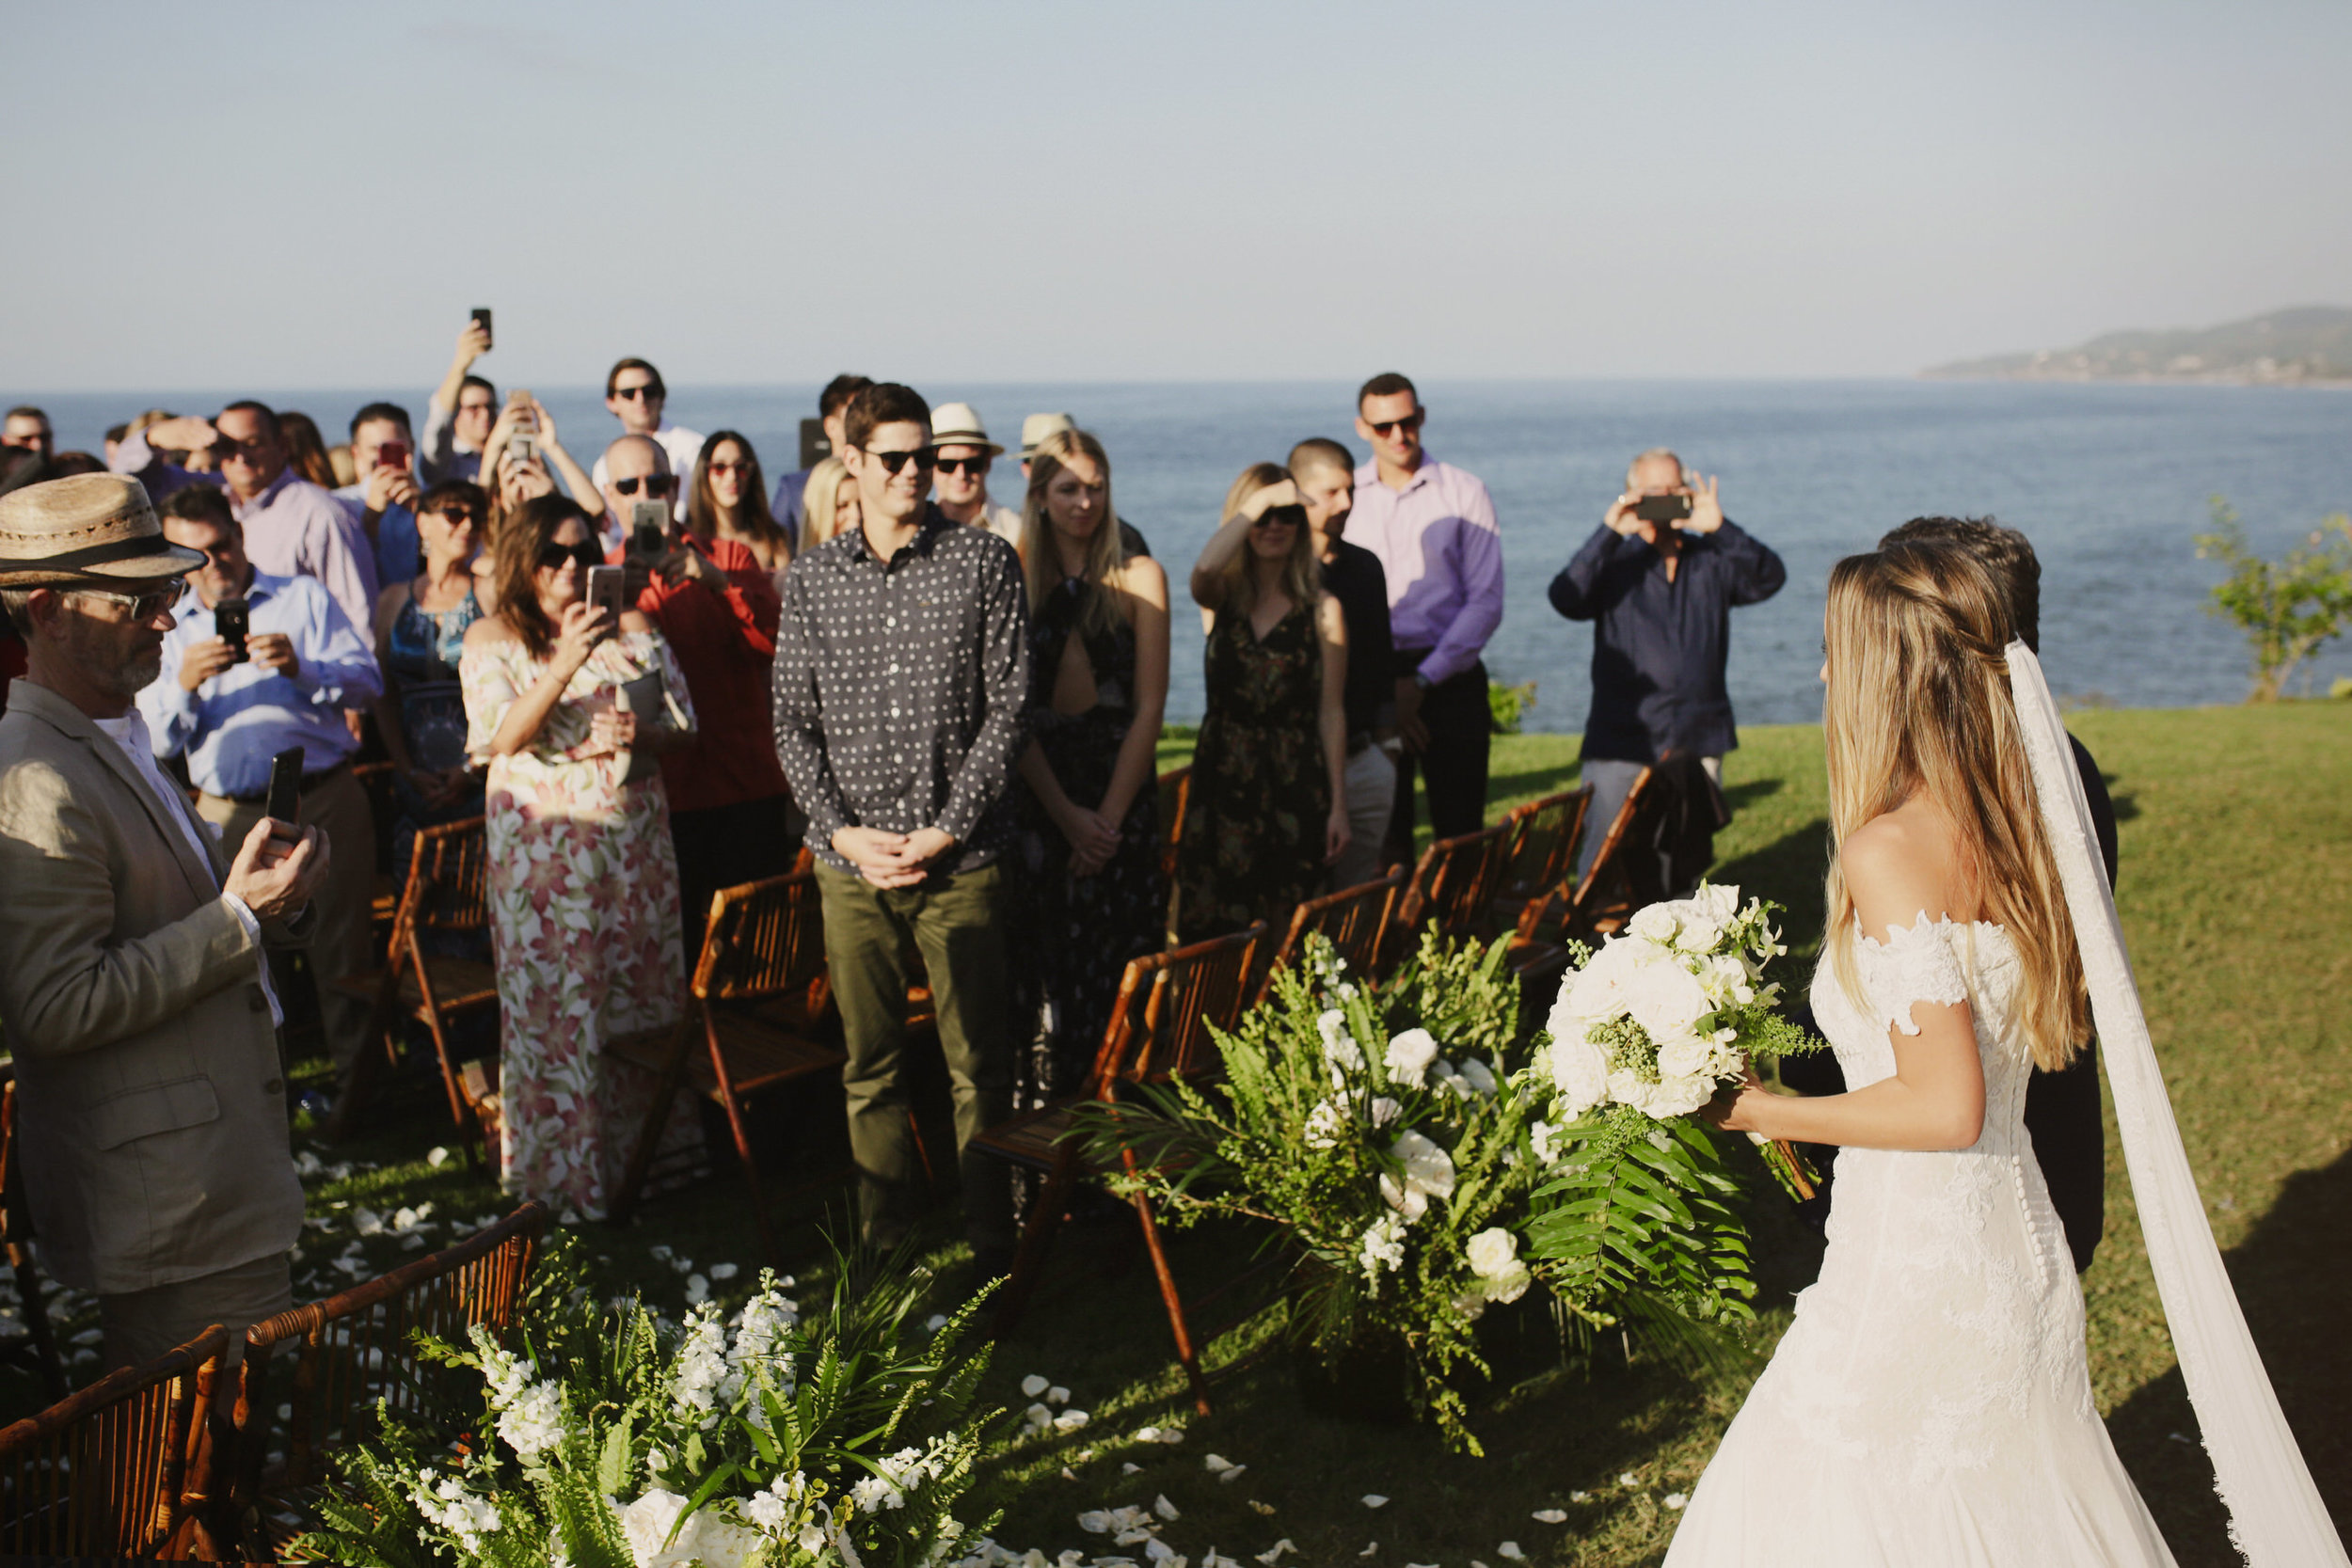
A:
{"type": "Polygon", "coordinates": [[[393,762],[393,860],[407,875],[419,827],[482,811],[482,778],[466,759],[466,696],[459,661],[466,632],[482,618],[473,585],[489,496],[452,480],[416,498],[423,571],[376,599],[376,733],[393,762]]]}

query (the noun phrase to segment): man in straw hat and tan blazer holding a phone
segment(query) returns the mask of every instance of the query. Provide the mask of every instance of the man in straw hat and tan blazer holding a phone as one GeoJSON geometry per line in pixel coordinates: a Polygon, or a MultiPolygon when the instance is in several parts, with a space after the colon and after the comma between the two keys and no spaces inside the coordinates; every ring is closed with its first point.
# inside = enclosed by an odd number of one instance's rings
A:
{"type": "Polygon", "coordinates": [[[132,701],[181,576],[136,480],[0,496],[0,609],[28,649],[0,717],[0,1025],[42,1260],[99,1295],[106,1363],[292,1305],[301,1182],[266,945],[308,940],[315,827],[223,849],[132,701]],[[285,837],[280,837],[285,835],[285,837]]]}

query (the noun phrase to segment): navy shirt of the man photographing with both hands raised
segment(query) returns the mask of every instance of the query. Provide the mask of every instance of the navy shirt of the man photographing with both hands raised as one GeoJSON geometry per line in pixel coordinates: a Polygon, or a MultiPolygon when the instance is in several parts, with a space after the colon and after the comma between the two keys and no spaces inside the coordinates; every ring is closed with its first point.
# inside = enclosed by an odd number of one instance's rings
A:
{"type": "Polygon", "coordinates": [[[1595,529],[1552,578],[1552,609],[1595,623],[1583,755],[1656,762],[1663,750],[1722,757],[1736,748],[1724,691],[1731,607],[1769,599],[1785,581],[1780,557],[1729,520],[1682,536],[1675,581],[1642,538],[1595,529]]]}

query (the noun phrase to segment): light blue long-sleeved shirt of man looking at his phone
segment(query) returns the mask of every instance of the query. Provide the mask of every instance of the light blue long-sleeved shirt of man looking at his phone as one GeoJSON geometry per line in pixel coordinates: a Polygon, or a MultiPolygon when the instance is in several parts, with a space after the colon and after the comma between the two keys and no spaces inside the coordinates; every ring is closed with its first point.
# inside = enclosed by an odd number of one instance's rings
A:
{"type": "Polygon", "coordinates": [[[179,684],[188,644],[219,637],[212,611],[191,592],[162,637],[162,677],[139,693],[139,710],[155,731],[158,757],[188,757],[188,780],[207,795],[235,799],[270,785],[270,757],[299,745],[303,771],[350,762],[360,743],[343,724],[346,708],[383,696],[376,656],[343,609],[313,578],[256,571],[245,590],[254,632],[285,632],[301,663],[296,677],[256,663],[228,665],[195,691],[179,684]]]}

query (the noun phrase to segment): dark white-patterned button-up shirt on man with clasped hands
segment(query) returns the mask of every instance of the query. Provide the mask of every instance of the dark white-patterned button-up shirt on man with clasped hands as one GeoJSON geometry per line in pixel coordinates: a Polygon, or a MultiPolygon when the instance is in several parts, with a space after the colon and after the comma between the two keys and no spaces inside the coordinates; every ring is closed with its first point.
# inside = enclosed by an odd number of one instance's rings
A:
{"type": "Polygon", "coordinates": [[[809,813],[809,851],[842,827],[957,842],[943,870],[985,865],[1011,837],[1028,703],[1021,557],[988,529],[924,508],[889,562],[863,529],[793,559],[776,625],[776,757],[809,813]]]}

